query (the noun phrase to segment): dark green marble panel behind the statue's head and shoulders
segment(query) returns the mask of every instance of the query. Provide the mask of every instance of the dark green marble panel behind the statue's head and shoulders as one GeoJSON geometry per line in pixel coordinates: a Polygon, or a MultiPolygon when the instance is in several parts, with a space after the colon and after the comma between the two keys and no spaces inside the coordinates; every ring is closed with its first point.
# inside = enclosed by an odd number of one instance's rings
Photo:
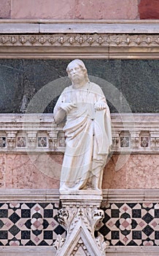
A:
{"type": "MultiPolygon", "coordinates": [[[[0,60],[0,113],[52,113],[70,60],[0,60]]],[[[84,60],[111,112],[159,112],[159,60],[84,60]]]]}

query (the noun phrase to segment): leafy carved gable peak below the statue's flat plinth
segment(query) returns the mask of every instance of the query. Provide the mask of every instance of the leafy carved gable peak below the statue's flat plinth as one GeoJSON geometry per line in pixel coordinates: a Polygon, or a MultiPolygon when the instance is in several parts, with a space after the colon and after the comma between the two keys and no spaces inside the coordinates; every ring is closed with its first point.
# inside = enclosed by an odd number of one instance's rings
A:
{"type": "Polygon", "coordinates": [[[104,218],[104,211],[97,206],[66,206],[58,211],[58,222],[67,230],[66,240],[61,236],[54,243],[59,255],[105,255],[106,242],[103,236],[94,237],[98,222],[104,218]],[[92,240],[90,242],[90,240],[92,240]],[[72,241],[74,244],[72,246],[72,241]],[[67,248],[67,249],[66,249],[67,248]],[[69,248],[69,250],[68,250],[69,248]]]}

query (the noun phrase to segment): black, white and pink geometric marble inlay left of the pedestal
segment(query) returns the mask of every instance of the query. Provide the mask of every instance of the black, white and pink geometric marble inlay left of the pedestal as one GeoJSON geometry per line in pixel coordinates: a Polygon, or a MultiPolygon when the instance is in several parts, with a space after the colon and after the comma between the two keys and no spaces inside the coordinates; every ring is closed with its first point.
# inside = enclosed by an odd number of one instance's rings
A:
{"type": "Polygon", "coordinates": [[[48,246],[66,230],[55,203],[0,203],[0,246],[48,246]]]}

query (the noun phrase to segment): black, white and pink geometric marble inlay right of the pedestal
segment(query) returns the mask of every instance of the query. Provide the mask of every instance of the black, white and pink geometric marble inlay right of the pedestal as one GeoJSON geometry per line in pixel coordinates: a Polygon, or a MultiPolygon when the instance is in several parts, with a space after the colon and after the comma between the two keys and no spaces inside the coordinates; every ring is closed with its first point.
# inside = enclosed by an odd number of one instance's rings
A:
{"type": "Polygon", "coordinates": [[[158,246],[159,203],[109,203],[98,225],[110,246],[158,246]]]}

